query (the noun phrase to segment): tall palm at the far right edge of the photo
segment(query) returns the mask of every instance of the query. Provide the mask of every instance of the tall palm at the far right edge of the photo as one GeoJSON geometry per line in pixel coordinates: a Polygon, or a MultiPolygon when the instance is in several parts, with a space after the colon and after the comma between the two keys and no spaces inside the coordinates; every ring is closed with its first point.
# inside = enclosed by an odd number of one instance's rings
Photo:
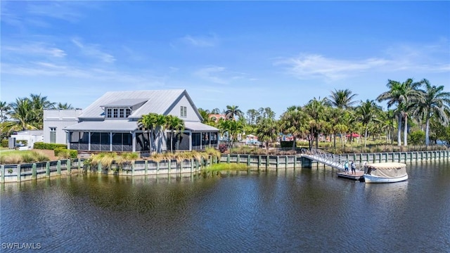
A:
{"type": "Polygon", "coordinates": [[[425,145],[430,144],[430,119],[436,117],[441,124],[449,123],[450,92],[444,91],[444,86],[431,85],[427,79],[423,79],[425,91],[423,100],[419,103],[417,113],[425,115],[425,145]]]}

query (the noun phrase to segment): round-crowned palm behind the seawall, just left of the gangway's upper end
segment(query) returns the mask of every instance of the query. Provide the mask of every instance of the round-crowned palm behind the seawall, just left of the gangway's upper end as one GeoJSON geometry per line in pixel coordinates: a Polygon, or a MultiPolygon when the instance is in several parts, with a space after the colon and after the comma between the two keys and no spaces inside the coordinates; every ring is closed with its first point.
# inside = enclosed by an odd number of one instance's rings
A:
{"type": "Polygon", "coordinates": [[[308,116],[302,110],[288,108],[288,111],[281,115],[279,123],[284,134],[294,136],[293,150],[295,150],[297,138],[307,132],[308,116]]]}

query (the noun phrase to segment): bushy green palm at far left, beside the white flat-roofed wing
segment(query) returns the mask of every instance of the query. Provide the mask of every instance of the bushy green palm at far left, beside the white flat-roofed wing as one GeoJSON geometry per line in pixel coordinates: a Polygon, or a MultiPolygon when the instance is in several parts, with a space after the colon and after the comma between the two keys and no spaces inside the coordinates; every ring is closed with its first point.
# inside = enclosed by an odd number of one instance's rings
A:
{"type": "Polygon", "coordinates": [[[11,103],[10,107],[8,115],[13,121],[8,124],[8,129],[16,131],[38,129],[39,122],[37,122],[36,111],[33,110],[30,98],[16,98],[15,103],[11,103]]]}

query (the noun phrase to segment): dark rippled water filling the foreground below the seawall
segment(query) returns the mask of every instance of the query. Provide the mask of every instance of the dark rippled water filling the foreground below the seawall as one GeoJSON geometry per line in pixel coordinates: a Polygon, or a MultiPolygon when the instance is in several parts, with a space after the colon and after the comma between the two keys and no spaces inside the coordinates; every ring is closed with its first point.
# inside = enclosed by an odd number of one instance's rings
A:
{"type": "Polygon", "coordinates": [[[0,250],[450,252],[450,164],[407,170],[409,181],[390,184],[340,179],[329,167],[7,183],[0,250]]]}

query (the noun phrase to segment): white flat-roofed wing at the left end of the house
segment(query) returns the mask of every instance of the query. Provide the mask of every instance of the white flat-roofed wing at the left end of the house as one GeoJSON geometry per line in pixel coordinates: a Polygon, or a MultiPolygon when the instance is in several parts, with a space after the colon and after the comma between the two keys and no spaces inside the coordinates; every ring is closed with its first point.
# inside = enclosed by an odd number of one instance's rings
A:
{"type": "Polygon", "coordinates": [[[65,126],[78,123],[81,109],[74,110],[44,110],[44,143],[50,143],[50,128],[56,127],[56,143],[67,144],[65,126]]]}

